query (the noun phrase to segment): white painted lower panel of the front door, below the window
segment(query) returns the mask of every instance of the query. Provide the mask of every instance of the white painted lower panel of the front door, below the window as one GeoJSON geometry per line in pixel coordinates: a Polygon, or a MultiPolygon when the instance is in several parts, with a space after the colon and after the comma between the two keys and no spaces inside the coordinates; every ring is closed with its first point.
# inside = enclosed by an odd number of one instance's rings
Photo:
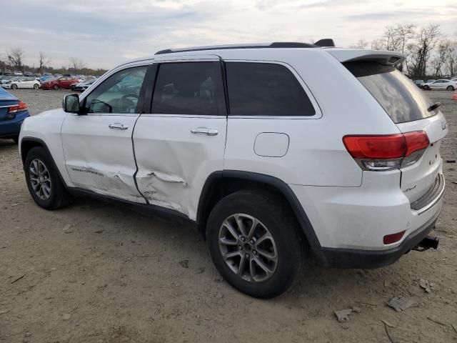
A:
{"type": "Polygon", "coordinates": [[[138,114],[78,116],[69,114],[62,125],[66,170],[75,187],[98,194],[146,203],[136,189],[136,164],[131,134],[138,114]],[[112,123],[126,129],[115,130],[112,123]]]}

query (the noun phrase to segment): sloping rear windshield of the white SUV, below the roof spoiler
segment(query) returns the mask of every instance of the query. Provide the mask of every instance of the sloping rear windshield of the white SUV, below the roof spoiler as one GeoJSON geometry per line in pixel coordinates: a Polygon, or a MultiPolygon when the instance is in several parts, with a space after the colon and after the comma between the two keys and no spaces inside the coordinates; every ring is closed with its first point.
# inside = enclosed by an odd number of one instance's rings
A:
{"type": "Polygon", "coordinates": [[[394,66],[374,61],[343,63],[358,81],[373,95],[395,123],[404,123],[433,116],[428,111],[433,102],[416,84],[394,66]]]}

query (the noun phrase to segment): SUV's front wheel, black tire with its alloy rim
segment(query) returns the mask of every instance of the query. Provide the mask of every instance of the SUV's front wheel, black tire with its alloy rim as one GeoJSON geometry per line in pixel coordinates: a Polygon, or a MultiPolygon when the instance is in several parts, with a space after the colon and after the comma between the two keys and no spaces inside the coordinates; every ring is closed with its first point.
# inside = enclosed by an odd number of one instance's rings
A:
{"type": "Polygon", "coordinates": [[[60,209],[71,203],[71,195],[66,192],[51,156],[49,156],[48,152],[41,146],[31,149],[27,154],[24,172],[27,188],[29,188],[31,197],[39,207],[43,207],[44,209],[60,209]],[[41,181],[43,181],[43,184],[46,187],[40,187],[40,185],[36,183],[32,184],[31,177],[34,177],[34,179],[40,178],[39,173],[36,172],[37,165],[42,177],[41,181]]]}

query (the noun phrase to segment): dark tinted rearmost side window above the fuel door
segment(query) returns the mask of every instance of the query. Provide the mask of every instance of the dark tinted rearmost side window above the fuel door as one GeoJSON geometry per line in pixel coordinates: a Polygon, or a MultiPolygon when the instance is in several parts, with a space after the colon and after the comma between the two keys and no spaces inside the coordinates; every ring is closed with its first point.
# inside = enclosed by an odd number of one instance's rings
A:
{"type": "Polygon", "coordinates": [[[296,77],[281,64],[226,63],[233,116],[313,116],[313,104],[296,77]]]}

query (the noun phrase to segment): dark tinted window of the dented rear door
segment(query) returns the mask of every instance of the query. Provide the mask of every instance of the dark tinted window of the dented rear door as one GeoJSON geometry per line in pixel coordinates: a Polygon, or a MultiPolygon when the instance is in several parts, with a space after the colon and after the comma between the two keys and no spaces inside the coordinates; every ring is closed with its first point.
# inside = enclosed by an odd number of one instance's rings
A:
{"type": "Polygon", "coordinates": [[[152,113],[225,116],[221,64],[216,61],[161,64],[152,113]]]}

